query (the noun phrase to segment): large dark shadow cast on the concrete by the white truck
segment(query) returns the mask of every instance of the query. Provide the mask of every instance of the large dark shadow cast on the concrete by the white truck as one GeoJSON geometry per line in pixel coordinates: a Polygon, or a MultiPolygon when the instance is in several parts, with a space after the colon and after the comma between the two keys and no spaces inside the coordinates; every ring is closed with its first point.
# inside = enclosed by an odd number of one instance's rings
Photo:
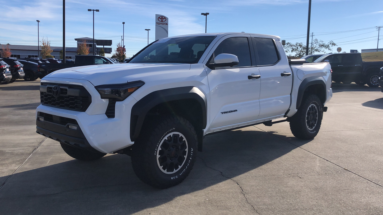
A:
{"type": "MultiPolygon", "coordinates": [[[[207,197],[226,195],[227,192],[219,188],[223,185],[209,187],[227,181],[235,189],[240,189],[230,179],[294,150],[296,146],[284,141],[285,138],[255,129],[206,136],[203,152],[197,154],[188,178],[164,190],[141,182],[126,155],[108,155],[91,162],[69,160],[59,163],[70,159],[60,146],[41,146],[0,189],[0,214],[132,214],[142,210],[149,214],[150,210],[155,210],[153,207],[165,203],[172,208],[183,207],[182,201],[190,197],[196,198],[196,202],[204,202],[207,197]],[[182,197],[207,188],[214,192],[182,197]]],[[[9,177],[4,176],[0,181],[9,177]]],[[[161,210],[164,212],[165,209],[161,210]]]]}

